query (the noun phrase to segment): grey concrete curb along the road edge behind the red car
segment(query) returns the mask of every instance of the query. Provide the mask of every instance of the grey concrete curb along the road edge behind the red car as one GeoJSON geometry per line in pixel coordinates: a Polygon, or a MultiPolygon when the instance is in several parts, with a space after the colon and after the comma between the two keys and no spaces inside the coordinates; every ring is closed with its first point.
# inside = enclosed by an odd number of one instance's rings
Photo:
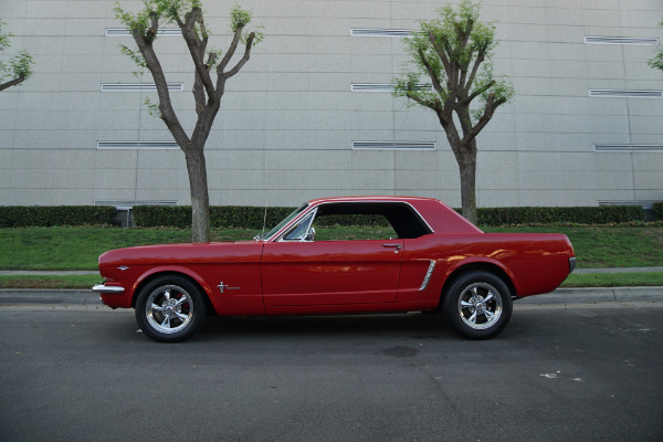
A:
{"type": "MultiPolygon", "coordinates": [[[[661,302],[663,287],[589,287],[558,288],[555,292],[518,299],[515,305],[594,304],[661,302]]],[[[11,305],[103,305],[99,295],[90,290],[0,290],[0,306],[11,305]]]]}

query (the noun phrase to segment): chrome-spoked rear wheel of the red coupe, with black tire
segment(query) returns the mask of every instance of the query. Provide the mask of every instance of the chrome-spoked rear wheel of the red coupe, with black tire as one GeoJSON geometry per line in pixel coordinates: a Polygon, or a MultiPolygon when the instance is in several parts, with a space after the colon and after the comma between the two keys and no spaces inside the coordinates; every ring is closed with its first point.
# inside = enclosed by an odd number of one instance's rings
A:
{"type": "Polygon", "coordinates": [[[511,291],[490,272],[465,273],[445,291],[444,315],[455,332],[467,339],[497,336],[508,324],[512,311],[511,291]]]}

